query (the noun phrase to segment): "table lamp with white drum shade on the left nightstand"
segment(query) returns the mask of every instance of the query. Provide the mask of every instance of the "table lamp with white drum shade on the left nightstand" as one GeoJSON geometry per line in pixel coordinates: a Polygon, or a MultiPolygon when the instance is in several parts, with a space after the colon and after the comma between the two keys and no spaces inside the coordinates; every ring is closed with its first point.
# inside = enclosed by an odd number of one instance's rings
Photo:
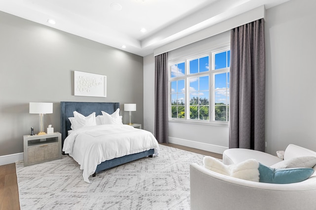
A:
{"type": "Polygon", "coordinates": [[[40,114],[40,132],[38,135],[46,134],[44,132],[44,114],[53,113],[53,103],[30,102],[30,114],[40,114]]]}

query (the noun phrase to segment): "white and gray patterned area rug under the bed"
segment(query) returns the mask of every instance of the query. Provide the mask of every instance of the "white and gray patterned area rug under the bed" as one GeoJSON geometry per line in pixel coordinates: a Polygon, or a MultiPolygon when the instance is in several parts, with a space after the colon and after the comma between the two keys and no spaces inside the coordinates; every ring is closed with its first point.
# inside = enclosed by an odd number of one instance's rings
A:
{"type": "Polygon", "coordinates": [[[145,157],[82,178],[79,164],[62,159],[23,167],[16,163],[22,210],[189,210],[190,164],[204,155],[159,145],[145,157]]]}

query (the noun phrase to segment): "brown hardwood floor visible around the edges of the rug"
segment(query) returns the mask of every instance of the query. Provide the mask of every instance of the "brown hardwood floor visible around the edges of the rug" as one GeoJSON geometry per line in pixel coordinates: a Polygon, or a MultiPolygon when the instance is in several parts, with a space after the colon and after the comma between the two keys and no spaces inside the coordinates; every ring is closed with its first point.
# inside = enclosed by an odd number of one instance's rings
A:
{"type": "MultiPolygon", "coordinates": [[[[180,150],[192,151],[195,153],[209,155],[216,158],[223,158],[223,155],[210,151],[197,150],[181,145],[165,144],[161,145],[177,148],[180,150]]],[[[19,189],[16,178],[15,163],[0,166],[0,210],[19,210],[19,189]]]]}

